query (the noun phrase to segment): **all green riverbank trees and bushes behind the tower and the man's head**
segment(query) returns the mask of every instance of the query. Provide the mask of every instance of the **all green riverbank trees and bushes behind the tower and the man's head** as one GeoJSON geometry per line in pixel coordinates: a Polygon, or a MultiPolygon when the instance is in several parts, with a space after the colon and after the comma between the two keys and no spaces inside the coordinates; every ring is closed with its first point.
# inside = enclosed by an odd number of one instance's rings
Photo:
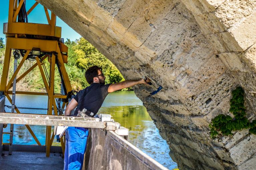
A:
{"type": "MultiPolygon", "coordinates": [[[[84,73],[87,68],[93,65],[98,65],[102,68],[102,71],[106,77],[106,84],[120,82],[124,80],[119,70],[84,38],[80,38],[76,41],[70,41],[69,39],[67,39],[65,44],[68,46],[68,63],[65,64],[65,67],[70,79],[71,86],[74,90],[78,91],[89,85],[85,80],[84,73]]],[[[0,39],[0,74],[2,74],[3,70],[4,53],[5,45],[3,43],[2,38],[0,39]]],[[[13,60],[13,57],[11,57],[9,78],[13,74],[13,60]]],[[[18,63],[19,61],[20,59],[18,60],[18,63]]],[[[33,64],[35,64],[35,61],[30,62],[26,60],[18,74],[18,77],[19,75],[24,73],[28,68],[30,68],[33,64]]],[[[47,60],[45,60],[45,65],[46,68],[49,68],[49,63],[47,62],[47,60]]],[[[54,92],[59,93],[60,77],[58,74],[57,67],[55,67],[54,84],[54,92]]],[[[34,68],[27,76],[21,79],[17,83],[16,89],[22,91],[44,92],[45,88],[38,67],[34,68]]]]}

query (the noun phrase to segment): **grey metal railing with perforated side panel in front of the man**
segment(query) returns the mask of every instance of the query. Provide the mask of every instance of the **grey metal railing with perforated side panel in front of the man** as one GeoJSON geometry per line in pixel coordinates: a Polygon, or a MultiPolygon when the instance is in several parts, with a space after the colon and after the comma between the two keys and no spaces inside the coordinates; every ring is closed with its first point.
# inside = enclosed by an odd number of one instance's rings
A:
{"type": "MultiPolygon", "coordinates": [[[[86,169],[105,170],[167,170],[160,163],[143,153],[139,148],[122,138],[122,128],[117,122],[100,122],[99,118],[81,118],[54,115],[3,113],[4,97],[0,98],[0,142],[2,124],[27,124],[44,126],[74,126],[91,128],[91,136],[84,162],[86,169]],[[119,136],[119,135],[121,136],[119,136]]],[[[127,135],[127,134],[126,134],[127,135]]],[[[1,150],[2,144],[0,143],[1,150]]],[[[28,145],[26,145],[28,146],[28,145]]],[[[43,146],[37,146],[42,148],[43,146]]],[[[62,148],[62,152],[64,152],[62,148]]]]}

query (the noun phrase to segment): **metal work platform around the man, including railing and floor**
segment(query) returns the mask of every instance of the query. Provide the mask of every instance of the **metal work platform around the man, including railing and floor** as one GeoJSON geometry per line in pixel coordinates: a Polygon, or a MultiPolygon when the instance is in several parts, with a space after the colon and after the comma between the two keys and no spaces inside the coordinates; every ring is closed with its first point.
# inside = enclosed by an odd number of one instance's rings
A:
{"type": "MultiPolygon", "coordinates": [[[[35,115],[18,113],[1,113],[4,108],[4,97],[0,97],[0,170],[57,170],[64,168],[62,153],[64,140],[60,146],[49,145],[2,145],[3,124],[28,124],[45,126],[90,127],[91,142],[87,143],[83,170],[167,170],[163,165],[143,153],[124,138],[128,135],[119,128],[117,122],[100,122],[97,118],[78,118],[53,115],[35,115]],[[116,132],[115,132],[116,131],[116,132]],[[124,138],[122,138],[121,136],[124,138]],[[10,147],[11,146],[11,147],[10,147]],[[12,152],[9,152],[9,148],[12,152]],[[12,155],[9,155],[12,154],[12,155]],[[45,154],[46,153],[46,154],[45,154]]],[[[110,117],[111,118],[111,117],[110,117]]],[[[127,139],[127,137],[126,137],[127,139]]]]}

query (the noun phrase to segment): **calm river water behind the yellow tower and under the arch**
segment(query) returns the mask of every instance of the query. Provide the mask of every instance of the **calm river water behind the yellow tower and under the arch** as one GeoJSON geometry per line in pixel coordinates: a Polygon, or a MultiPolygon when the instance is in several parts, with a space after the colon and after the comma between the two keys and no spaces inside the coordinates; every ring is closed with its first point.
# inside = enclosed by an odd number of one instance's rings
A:
{"type": "MultiPolygon", "coordinates": [[[[17,107],[47,108],[47,96],[16,95],[17,107]]],[[[10,106],[8,100],[6,105],[10,106]]],[[[6,112],[11,110],[5,107],[6,112]]],[[[46,114],[46,110],[19,109],[22,113],[46,114]]],[[[166,141],[160,136],[153,120],[149,116],[142,101],[133,91],[118,91],[110,93],[98,114],[111,114],[115,122],[129,129],[129,142],[144,153],[157,160],[168,169],[177,168],[177,163],[169,155],[170,149],[166,141]]],[[[4,129],[9,131],[10,126],[4,129]]],[[[45,126],[31,125],[31,129],[42,145],[45,144],[45,126]]],[[[9,141],[9,135],[4,134],[3,142],[9,141]]],[[[24,125],[14,125],[13,144],[36,144],[24,125]]],[[[53,145],[60,146],[54,139],[53,145]]]]}

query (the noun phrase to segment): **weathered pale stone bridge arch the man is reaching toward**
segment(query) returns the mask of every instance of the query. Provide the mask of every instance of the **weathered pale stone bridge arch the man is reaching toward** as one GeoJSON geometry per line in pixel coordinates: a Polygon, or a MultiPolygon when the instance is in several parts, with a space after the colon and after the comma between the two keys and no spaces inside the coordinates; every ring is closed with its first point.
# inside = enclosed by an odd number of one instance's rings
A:
{"type": "Polygon", "coordinates": [[[209,123],[245,90],[255,119],[255,0],[37,0],[92,43],[125,79],[148,75],[163,90],[134,88],[180,169],[255,169],[248,130],[212,139],[209,123]]]}

